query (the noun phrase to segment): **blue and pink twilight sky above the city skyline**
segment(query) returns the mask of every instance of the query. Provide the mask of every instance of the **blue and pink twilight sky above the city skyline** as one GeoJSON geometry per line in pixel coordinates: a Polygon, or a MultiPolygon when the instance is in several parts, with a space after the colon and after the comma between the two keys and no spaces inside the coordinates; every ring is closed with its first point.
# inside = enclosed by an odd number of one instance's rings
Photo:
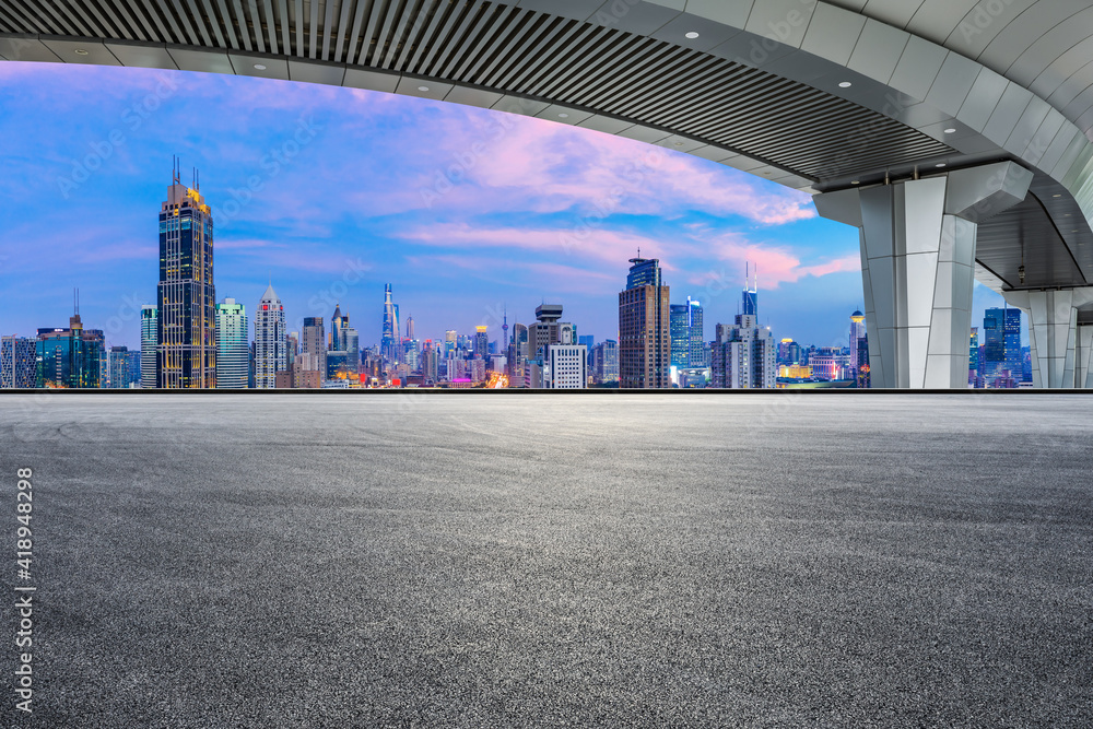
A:
{"type": "MultiPolygon", "coordinates": [[[[268,280],[291,329],[350,315],[379,341],[384,284],[421,339],[529,321],[543,301],[597,341],[640,246],[705,337],[737,313],[745,261],[777,338],[843,344],[861,305],[857,231],[808,196],[600,132],[360,90],[190,72],[0,63],[0,332],[84,326],[137,346],[155,302],[172,155],[200,171],[218,301],[268,280]]],[[[973,322],[1001,297],[976,285],[973,322]]]]}

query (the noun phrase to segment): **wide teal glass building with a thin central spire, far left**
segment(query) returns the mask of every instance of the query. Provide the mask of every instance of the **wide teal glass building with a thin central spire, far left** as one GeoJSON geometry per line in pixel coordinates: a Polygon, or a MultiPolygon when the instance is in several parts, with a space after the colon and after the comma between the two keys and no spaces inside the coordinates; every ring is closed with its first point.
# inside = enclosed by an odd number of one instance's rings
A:
{"type": "Polygon", "coordinates": [[[79,307],[68,329],[38,329],[34,357],[37,387],[98,388],[105,339],[101,329],[84,329],[79,307]]]}

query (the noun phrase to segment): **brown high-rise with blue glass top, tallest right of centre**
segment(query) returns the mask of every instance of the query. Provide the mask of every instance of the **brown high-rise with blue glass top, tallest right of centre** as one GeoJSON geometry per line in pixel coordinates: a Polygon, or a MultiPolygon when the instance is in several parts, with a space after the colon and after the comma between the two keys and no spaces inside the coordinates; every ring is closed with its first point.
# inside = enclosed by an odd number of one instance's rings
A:
{"type": "Polygon", "coordinates": [[[656,258],[631,258],[626,290],[619,293],[620,387],[671,385],[668,286],[656,258]]]}

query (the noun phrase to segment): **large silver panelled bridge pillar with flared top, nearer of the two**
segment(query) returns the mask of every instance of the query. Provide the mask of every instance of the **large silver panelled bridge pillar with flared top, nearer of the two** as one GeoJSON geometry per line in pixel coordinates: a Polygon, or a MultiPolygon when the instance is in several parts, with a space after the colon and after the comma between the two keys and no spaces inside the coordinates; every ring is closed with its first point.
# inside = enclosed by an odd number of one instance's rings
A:
{"type": "Polygon", "coordinates": [[[976,227],[1031,181],[1001,162],[813,197],[859,230],[872,387],[967,387],[976,227]]]}

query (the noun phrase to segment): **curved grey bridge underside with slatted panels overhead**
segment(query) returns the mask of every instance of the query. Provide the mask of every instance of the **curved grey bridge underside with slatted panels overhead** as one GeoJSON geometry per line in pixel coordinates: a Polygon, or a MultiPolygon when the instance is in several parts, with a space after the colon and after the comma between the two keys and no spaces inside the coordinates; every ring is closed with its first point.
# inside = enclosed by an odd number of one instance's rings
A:
{"type": "Polygon", "coordinates": [[[810,192],[1013,160],[1034,183],[980,225],[980,280],[1093,281],[1089,1],[9,0],[0,57],[446,99],[810,192]]]}

